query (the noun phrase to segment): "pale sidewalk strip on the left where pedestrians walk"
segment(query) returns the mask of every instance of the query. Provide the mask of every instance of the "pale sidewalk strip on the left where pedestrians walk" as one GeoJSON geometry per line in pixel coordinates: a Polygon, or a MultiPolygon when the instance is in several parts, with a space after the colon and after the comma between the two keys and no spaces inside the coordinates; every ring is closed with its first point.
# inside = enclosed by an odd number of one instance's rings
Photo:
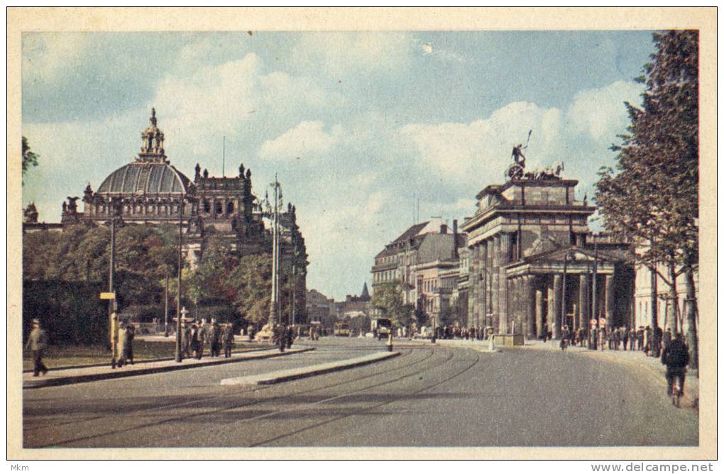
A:
{"type": "Polygon", "coordinates": [[[284,355],[299,354],[314,350],[314,347],[302,347],[279,352],[277,349],[256,350],[251,352],[237,352],[232,357],[204,357],[201,360],[184,359],[181,363],[175,360],[156,360],[153,362],[138,362],[135,365],[124,365],[122,368],[111,368],[110,365],[91,366],[83,368],[68,368],[62,371],[49,371],[45,376],[33,377],[32,373],[22,374],[23,389],[37,389],[44,386],[58,386],[67,384],[80,384],[109,378],[140,376],[148,373],[159,373],[169,371],[180,371],[189,368],[206,367],[208,365],[219,365],[245,360],[269,359],[284,355]]]}

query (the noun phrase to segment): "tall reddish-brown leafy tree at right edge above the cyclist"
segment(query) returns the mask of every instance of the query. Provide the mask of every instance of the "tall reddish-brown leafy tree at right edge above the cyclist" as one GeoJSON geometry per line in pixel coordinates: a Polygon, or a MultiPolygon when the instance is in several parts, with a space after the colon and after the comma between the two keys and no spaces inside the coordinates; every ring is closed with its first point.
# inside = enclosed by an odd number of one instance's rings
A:
{"type": "MultiPolygon", "coordinates": [[[[641,108],[626,103],[631,125],[620,135],[616,169],[599,172],[596,201],[608,229],[639,245],[636,261],[669,289],[677,329],[676,280],[686,275],[691,365],[698,361],[694,274],[699,266],[699,35],[654,33],[657,51],[639,82],[641,108]],[[666,268],[665,274],[658,265],[666,268]]],[[[654,316],[654,315],[652,315],[654,316]]],[[[656,323],[652,318],[652,322],[656,323]]]]}

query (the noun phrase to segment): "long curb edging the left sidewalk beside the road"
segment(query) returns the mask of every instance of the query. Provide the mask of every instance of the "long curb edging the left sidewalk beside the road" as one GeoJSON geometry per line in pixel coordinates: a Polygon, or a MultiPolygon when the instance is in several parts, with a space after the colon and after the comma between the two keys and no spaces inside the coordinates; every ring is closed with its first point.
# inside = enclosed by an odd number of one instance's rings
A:
{"type": "Polygon", "coordinates": [[[211,365],[230,364],[237,362],[245,362],[246,360],[260,360],[260,359],[271,359],[272,357],[280,357],[283,355],[300,354],[302,352],[308,352],[314,350],[314,347],[305,347],[303,349],[292,349],[286,352],[273,352],[271,354],[256,355],[253,357],[243,358],[230,358],[230,359],[219,359],[213,360],[206,363],[194,363],[191,365],[167,365],[164,367],[152,367],[152,368],[141,368],[134,371],[114,371],[104,373],[89,373],[82,376],[67,376],[67,377],[56,377],[56,378],[39,378],[38,380],[24,380],[22,381],[22,389],[41,389],[46,386],[61,386],[70,384],[80,384],[83,382],[92,382],[98,380],[109,380],[111,378],[122,378],[122,377],[133,377],[148,375],[149,373],[161,373],[171,371],[182,371],[191,368],[209,367],[211,365]]]}

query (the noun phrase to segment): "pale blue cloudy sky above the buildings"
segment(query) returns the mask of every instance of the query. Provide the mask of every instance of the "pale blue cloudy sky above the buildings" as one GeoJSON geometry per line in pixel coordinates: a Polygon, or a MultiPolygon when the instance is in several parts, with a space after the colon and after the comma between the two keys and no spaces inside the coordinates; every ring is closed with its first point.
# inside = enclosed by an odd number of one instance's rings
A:
{"type": "Polygon", "coordinates": [[[222,174],[223,137],[225,174],[243,163],[259,198],[278,174],[308,288],[343,299],[417,200],[421,221],[471,216],[529,130],[526,166],[563,162],[592,197],[652,52],[647,31],[24,33],[23,204],[59,221],[135,158],[155,107],[187,176],[222,174]]]}

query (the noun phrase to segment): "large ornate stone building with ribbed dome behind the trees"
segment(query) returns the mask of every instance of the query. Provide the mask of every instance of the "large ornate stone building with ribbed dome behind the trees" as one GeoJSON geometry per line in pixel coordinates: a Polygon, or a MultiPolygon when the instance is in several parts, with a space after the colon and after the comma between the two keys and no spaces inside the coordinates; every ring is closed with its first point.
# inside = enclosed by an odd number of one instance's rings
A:
{"type": "MultiPolygon", "coordinates": [[[[138,155],[111,172],[98,190],[88,184],[83,198],[71,195],[62,203],[60,223],[38,222],[38,212],[30,203],[23,232],[62,231],[72,224],[105,225],[111,217],[120,216],[127,225],[180,226],[182,251],[192,268],[203,255],[204,237],[210,233],[220,235],[238,255],[271,253],[269,209],[265,211],[252,192],[251,170],[242,164],[235,176],[213,177],[196,164],[192,181],[169,161],[155,109],[151,109],[148,127],[140,138],[138,155]]],[[[304,321],[308,262],[295,206],[288,204],[279,221],[282,284],[295,296],[293,303],[283,300],[282,308],[285,317],[294,313],[295,321],[304,321]]]]}

